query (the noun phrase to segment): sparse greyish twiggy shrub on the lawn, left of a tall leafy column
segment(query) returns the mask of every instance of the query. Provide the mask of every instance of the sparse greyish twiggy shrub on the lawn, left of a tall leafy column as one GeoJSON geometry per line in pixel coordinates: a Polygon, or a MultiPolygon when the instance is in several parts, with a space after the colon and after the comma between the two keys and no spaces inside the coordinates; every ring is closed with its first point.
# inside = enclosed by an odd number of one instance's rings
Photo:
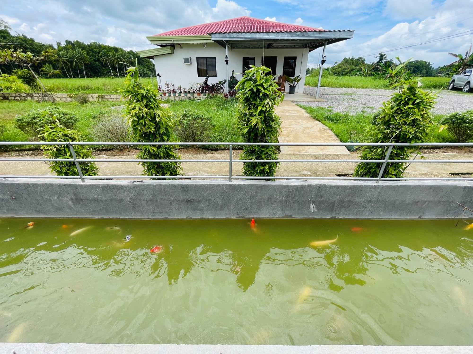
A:
{"type": "Polygon", "coordinates": [[[120,142],[132,141],[130,125],[120,112],[109,113],[109,115],[98,122],[93,128],[92,137],[98,142],[120,142]]]}

